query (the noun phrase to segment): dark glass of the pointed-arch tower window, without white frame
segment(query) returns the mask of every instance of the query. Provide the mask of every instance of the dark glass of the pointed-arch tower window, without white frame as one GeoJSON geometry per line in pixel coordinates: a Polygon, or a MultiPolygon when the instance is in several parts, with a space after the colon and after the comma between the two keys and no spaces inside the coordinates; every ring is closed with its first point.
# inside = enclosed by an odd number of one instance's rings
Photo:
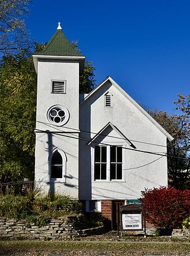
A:
{"type": "Polygon", "coordinates": [[[62,178],[63,175],[63,160],[62,156],[58,151],[55,151],[55,153],[52,156],[52,164],[51,164],[51,178],[62,178]]]}

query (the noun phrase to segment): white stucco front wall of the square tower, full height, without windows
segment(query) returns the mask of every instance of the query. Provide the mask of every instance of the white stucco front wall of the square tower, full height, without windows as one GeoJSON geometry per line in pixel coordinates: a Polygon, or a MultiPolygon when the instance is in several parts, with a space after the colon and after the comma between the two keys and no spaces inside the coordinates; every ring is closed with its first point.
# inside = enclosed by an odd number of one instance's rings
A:
{"type": "Polygon", "coordinates": [[[78,138],[78,83],[78,62],[39,61],[35,180],[44,192],[52,190],[74,198],[78,198],[78,140],[66,136],[78,138]],[[51,93],[52,80],[66,80],[66,94],[51,93]],[[53,105],[62,105],[68,109],[69,120],[65,125],[57,127],[48,121],[47,110],[53,105]],[[43,131],[49,131],[49,135],[43,131]],[[64,151],[67,159],[65,183],[49,182],[48,157],[57,147],[64,151]]]}

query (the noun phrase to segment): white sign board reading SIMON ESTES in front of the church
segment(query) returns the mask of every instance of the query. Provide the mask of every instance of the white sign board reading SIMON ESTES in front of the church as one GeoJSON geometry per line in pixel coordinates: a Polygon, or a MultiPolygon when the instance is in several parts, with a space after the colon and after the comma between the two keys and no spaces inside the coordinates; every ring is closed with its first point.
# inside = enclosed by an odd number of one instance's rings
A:
{"type": "Polygon", "coordinates": [[[120,207],[121,230],[143,230],[143,208],[137,204],[127,204],[120,207]]]}

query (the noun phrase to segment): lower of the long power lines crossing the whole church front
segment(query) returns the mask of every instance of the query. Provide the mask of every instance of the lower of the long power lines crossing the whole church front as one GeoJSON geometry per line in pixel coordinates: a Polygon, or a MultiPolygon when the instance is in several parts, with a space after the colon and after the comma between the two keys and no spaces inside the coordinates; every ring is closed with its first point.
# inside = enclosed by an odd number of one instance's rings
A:
{"type": "MultiPolygon", "coordinates": [[[[43,131],[41,129],[34,129],[34,128],[31,128],[31,127],[27,127],[26,125],[14,124],[14,123],[2,121],[2,120],[0,120],[0,122],[2,122],[4,124],[15,125],[15,126],[18,126],[18,127],[24,127],[24,128],[28,128],[28,129],[33,129],[33,131],[40,131],[40,132],[50,133],[49,131],[43,131]]],[[[63,137],[74,138],[74,139],[77,139],[77,140],[83,140],[83,141],[90,142],[90,140],[88,140],[86,138],[71,137],[71,136],[68,136],[68,135],[65,135],[65,134],[60,134],[60,133],[57,133],[57,132],[51,132],[51,133],[59,135],[59,136],[63,136],[63,137]]],[[[101,141],[93,141],[93,143],[96,143],[96,144],[99,144],[99,145],[102,145],[102,146],[113,146],[111,144],[102,143],[101,141]]],[[[185,157],[171,156],[169,154],[160,154],[160,153],[155,153],[155,152],[151,152],[151,151],[138,150],[137,148],[136,149],[128,148],[128,147],[122,147],[122,148],[124,148],[126,150],[132,150],[132,151],[137,151],[137,152],[141,152],[141,153],[146,153],[146,154],[153,154],[153,155],[156,155],[156,156],[171,157],[171,158],[175,158],[175,159],[182,159],[182,160],[190,161],[190,159],[187,159],[185,157]]]]}

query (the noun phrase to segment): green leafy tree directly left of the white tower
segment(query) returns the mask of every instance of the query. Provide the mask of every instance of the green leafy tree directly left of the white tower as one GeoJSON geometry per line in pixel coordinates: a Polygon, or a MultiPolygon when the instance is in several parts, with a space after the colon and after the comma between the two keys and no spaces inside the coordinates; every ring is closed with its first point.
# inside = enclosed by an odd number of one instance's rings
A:
{"type": "Polygon", "coordinates": [[[33,176],[36,83],[31,55],[4,57],[0,69],[0,182],[33,176]]]}

